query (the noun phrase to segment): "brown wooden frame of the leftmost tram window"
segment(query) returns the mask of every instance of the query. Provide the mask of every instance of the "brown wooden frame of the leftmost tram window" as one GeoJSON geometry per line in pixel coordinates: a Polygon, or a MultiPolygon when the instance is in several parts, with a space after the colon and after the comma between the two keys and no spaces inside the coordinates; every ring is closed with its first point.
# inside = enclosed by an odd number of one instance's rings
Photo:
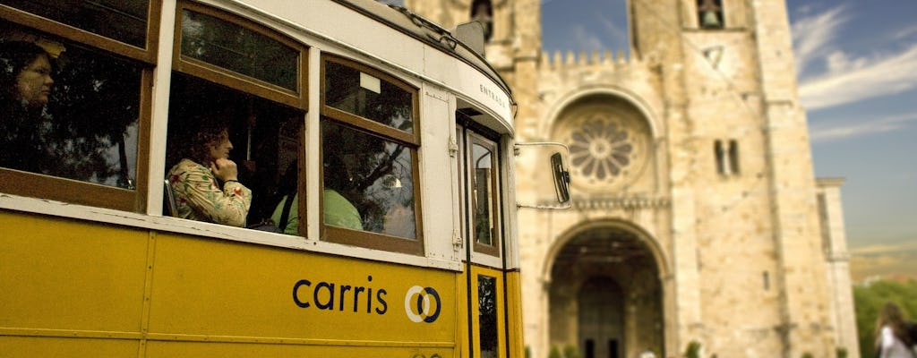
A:
{"type": "Polygon", "coordinates": [[[149,186],[149,126],[151,118],[153,69],[159,48],[160,0],[150,0],[147,12],[146,44],[138,48],[114,38],[61,24],[43,16],[0,5],[0,19],[6,20],[30,31],[60,38],[65,43],[83,46],[102,56],[133,62],[139,71],[137,112],[137,157],[134,185],[132,188],[111,187],[79,179],[67,179],[50,175],[31,173],[10,168],[0,168],[0,191],[15,195],[37,197],[114,209],[125,212],[145,212],[146,192],[149,186]]]}

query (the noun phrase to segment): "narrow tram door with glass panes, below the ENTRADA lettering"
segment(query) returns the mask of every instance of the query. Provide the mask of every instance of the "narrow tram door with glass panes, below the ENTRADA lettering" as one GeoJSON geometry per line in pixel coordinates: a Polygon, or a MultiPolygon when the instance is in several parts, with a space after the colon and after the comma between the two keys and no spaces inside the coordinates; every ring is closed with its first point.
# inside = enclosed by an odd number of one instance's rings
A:
{"type": "Polygon", "coordinates": [[[499,137],[456,113],[462,238],[468,287],[468,357],[505,358],[506,282],[499,183],[499,137]]]}

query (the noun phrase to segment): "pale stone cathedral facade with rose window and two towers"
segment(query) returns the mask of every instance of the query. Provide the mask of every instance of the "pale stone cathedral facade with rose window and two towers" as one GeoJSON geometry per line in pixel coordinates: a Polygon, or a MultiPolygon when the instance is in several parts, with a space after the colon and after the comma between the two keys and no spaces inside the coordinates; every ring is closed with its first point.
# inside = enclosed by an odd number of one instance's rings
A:
{"type": "MultiPolygon", "coordinates": [[[[857,357],[843,179],[814,178],[784,1],[629,0],[626,57],[543,53],[541,3],[404,4],[485,22],[517,141],[569,146],[573,208],[518,214],[531,356],[857,357]]],[[[536,197],[545,168],[517,169],[536,197]]]]}

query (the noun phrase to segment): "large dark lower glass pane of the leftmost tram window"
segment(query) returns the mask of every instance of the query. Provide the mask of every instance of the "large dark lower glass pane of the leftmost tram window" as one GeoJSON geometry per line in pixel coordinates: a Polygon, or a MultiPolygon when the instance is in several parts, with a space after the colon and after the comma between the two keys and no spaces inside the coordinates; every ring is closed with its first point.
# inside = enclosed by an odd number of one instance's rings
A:
{"type": "Polygon", "coordinates": [[[6,22],[0,33],[0,146],[17,148],[0,167],[134,189],[142,68],[6,22]]]}

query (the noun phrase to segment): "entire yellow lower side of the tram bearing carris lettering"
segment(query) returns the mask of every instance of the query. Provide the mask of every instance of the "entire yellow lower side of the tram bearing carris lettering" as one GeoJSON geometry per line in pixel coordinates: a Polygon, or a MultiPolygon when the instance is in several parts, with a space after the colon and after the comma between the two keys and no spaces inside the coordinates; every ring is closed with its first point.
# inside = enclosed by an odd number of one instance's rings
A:
{"type": "Polygon", "coordinates": [[[458,350],[454,272],[13,212],[0,227],[0,356],[458,350]]]}

